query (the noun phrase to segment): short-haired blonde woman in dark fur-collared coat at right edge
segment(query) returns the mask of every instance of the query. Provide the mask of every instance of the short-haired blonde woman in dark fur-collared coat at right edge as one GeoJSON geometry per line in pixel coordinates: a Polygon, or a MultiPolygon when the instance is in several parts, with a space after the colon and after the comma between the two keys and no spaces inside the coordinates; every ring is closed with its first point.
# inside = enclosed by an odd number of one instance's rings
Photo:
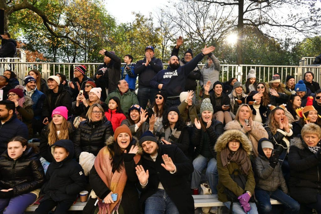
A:
{"type": "Polygon", "coordinates": [[[320,126],[310,123],[303,126],[301,137],[291,140],[289,192],[301,204],[304,213],[312,213],[311,209],[321,213],[320,139],[320,126]],[[307,208],[310,210],[304,210],[307,208]]]}

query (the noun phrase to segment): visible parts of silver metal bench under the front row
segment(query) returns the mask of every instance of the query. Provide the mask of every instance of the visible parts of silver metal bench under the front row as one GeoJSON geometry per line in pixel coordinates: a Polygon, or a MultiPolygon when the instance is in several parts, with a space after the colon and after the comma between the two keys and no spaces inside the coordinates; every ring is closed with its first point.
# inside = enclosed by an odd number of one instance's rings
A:
{"type": "MultiPolygon", "coordinates": [[[[218,207],[218,214],[221,214],[220,207],[225,206],[223,202],[217,199],[217,195],[193,195],[194,198],[194,206],[197,207],[218,207]]],[[[279,201],[271,199],[271,204],[282,204],[279,201]]],[[[74,203],[69,210],[83,210],[86,202],[80,202],[80,199],[74,203]]],[[[26,212],[35,211],[38,205],[31,205],[27,207],[26,212]]],[[[54,210],[54,209],[53,209],[54,210]]]]}

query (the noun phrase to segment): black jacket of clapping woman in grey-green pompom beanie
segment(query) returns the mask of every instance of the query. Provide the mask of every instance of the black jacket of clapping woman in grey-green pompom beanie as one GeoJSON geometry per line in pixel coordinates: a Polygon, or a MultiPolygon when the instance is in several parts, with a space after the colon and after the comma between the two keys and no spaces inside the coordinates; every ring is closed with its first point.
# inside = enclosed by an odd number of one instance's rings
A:
{"type": "MultiPolygon", "coordinates": [[[[224,132],[224,126],[220,121],[217,121],[217,120],[212,120],[211,126],[206,129],[210,151],[214,158],[216,158],[216,151],[214,150],[216,140],[223,132],[224,132]]],[[[201,129],[195,128],[193,135],[191,137],[191,142],[196,147],[194,152],[194,158],[196,158],[201,153],[201,150],[203,147],[203,133],[204,131],[202,128],[201,129]]]]}

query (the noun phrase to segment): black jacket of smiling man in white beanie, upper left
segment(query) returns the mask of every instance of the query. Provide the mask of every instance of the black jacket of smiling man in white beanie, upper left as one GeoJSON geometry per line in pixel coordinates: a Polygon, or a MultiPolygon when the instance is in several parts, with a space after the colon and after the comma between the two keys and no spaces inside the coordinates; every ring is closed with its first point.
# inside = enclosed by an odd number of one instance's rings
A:
{"type": "Polygon", "coordinates": [[[67,109],[71,109],[71,95],[70,92],[65,90],[64,85],[60,84],[58,93],[54,93],[52,89],[49,89],[46,93],[46,99],[43,103],[42,117],[48,117],[51,120],[52,111],[58,106],[65,106],[67,109]],[[57,95],[57,96],[56,96],[57,95]],[[54,100],[53,100],[54,99],[54,100]]]}

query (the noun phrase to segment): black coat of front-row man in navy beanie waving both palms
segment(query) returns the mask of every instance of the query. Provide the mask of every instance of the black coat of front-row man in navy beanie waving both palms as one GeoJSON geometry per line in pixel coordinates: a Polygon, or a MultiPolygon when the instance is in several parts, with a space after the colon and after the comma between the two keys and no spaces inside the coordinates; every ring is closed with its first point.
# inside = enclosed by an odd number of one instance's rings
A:
{"type": "MultiPolygon", "coordinates": [[[[158,189],[158,184],[161,183],[164,190],[170,199],[176,205],[181,214],[194,214],[194,199],[191,195],[190,185],[187,182],[187,175],[190,175],[193,170],[192,162],[183,154],[176,145],[160,145],[157,150],[155,162],[149,154],[143,153],[138,165],[142,165],[145,170],[149,171],[148,183],[140,196],[141,210],[144,210],[144,203],[148,197],[154,194],[158,189]],[[177,172],[169,173],[164,167],[162,155],[167,154],[176,166],[177,172]]],[[[138,183],[139,184],[139,183],[138,183]]]]}

